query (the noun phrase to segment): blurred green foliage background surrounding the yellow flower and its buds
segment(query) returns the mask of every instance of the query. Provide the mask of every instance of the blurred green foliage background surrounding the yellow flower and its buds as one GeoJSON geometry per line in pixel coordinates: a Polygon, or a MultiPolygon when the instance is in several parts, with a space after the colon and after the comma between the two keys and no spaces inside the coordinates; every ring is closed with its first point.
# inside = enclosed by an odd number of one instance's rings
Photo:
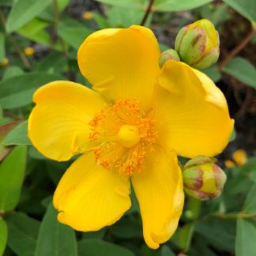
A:
{"type": "Polygon", "coordinates": [[[32,94],[58,79],[90,86],[77,67],[77,48],[99,28],[140,24],[148,0],[0,0],[0,255],[171,256],[256,254],[256,2],[156,0],[146,23],[162,51],[183,25],[208,18],[220,32],[219,62],[204,72],[227,97],[236,132],[219,156],[236,149],[247,164],[226,168],[224,194],[186,198],[175,235],[150,250],[137,202],[118,223],[99,232],[74,232],[56,220],[51,196],[70,165],[47,160],[27,137],[32,94]],[[89,13],[85,13],[89,12],[89,13]],[[32,47],[32,48],[28,48],[32,47]],[[29,50],[30,49],[30,50],[29,50]]]}

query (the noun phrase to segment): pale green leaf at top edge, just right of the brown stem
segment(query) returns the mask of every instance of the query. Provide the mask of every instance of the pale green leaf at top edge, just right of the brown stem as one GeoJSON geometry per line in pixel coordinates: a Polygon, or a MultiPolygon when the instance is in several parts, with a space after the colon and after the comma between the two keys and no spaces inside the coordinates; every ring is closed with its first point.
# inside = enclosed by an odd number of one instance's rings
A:
{"type": "Polygon", "coordinates": [[[153,10],[161,12],[177,12],[203,6],[213,0],[156,0],[153,10]]]}

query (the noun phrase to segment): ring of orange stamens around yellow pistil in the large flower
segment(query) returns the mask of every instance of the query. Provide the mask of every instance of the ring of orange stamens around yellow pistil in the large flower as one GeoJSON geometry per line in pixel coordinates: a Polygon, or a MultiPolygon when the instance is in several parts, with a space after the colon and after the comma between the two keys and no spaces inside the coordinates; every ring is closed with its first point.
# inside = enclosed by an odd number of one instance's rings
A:
{"type": "Polygon", "coordinates": [[[141,172],[156,142],[155,122],[137,102],[119,100],[89,122],[96,163],[125,175],[141,172]]]}

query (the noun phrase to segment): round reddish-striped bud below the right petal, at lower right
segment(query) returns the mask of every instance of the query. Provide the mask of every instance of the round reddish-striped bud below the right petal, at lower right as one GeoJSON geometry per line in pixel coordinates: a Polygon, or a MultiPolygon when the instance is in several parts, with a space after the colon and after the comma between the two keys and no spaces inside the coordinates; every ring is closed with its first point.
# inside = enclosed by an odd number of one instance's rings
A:
{"type": "Polygon", "coordinates": [[[226,179],[224,171],[214,164],[214,160],[204,156],[188,161],[183,169],[184,190],[199,200],[220,196],[226,179]]]}

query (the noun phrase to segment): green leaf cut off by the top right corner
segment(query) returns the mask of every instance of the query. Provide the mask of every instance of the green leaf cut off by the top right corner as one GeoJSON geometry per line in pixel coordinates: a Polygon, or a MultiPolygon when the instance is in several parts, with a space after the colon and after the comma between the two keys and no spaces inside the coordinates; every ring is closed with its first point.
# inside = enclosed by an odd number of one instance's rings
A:
{"type": "Polygon", "coordinates": [[[224,2],[252,23],[256,22],[255,0],[224,0],[224,2]]]}

